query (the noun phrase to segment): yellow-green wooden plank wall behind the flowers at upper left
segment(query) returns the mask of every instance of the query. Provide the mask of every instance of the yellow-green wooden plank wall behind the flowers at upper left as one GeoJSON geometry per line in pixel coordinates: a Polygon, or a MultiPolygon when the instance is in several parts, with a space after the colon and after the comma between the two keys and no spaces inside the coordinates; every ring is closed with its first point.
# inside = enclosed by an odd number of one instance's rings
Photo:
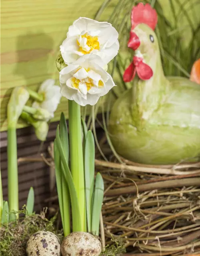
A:
{"type": "MultiPolygon", "coordinates": [[[[0,131],[7,129],[6,106],[12,88],[29,86],[37,90],[48,78],[59,84],[55,60],[68,26],[80,16],[94,18],[103,2],[1,0],[0,131]]],[[[109,17],[116,2],[112,1],[101,20],[109,17]]],[[[52,122],[62,111],[67,115],[66,102],[62,98],[52,122]]],[[[18,124],[18,128],[25,126],[23,122],[18,124]]]]}

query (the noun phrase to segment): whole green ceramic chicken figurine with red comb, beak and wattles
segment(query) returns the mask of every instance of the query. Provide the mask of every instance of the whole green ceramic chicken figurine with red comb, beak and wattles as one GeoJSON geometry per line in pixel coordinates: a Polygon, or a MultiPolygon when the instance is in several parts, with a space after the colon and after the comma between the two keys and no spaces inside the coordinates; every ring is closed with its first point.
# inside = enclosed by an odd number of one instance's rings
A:
{"type": "Polygon", "coordinates": [[[150,4],[132,9],[128,47],[133,61],[124,81],[138,80],[111,110],[109,132],[121,156],[143,164],[176,164],[200,156],[200,85],[183,77],[165,77],[157,14],[150,4]]]}

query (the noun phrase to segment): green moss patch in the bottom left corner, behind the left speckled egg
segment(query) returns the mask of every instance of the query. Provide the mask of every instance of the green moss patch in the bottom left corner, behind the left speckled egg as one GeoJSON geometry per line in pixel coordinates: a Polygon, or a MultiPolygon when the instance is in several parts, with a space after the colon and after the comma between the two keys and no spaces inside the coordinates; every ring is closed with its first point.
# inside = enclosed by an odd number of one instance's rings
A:
{"type": "MultiPolygon", "coordinates": [[[[25,214],[25,210],[19,213],[25,214]]],[[[0,255],[26,256],[26,243],[30,236],[39,230],[47,230],[62,238],[62,233],[56,231],[54,223],[56,216],[51,220],[46,217],[46,210],[40,214],[25,216],[18,223],[10,223],[0,228],[0,255]]]]}

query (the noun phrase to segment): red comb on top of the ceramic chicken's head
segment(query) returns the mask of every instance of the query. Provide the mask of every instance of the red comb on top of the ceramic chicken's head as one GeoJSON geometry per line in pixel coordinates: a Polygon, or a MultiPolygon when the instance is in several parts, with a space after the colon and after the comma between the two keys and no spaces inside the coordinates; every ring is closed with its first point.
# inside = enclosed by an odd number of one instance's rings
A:
{"type": "Polygon", "coordinates": [[[158,22],[158,16],[156,10],[154,10],[150,4],[139,3],[132,8],[131,12],[131,24],[132,27],[136,27],[140,23],[148,25],[152,30],[156,28],[158,22]]]}

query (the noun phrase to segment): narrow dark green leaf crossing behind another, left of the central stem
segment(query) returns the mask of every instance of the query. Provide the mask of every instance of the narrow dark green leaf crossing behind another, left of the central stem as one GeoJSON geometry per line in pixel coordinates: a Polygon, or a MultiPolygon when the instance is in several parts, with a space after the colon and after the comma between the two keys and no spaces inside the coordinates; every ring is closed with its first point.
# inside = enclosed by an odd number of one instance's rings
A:
{"type": "MultiPolygon", "coordinates": [[[[66,157],[67,163],[69,161],[69,141],[68,141],[68,129],[64,113],[61,113],[60,117],[60,141],[64,150],[64,155],[66,157]]],[[[61,185],[62,185],[62,207],[63,207],[63,230],[64,236],[70,234],[70,194],[68,189],[68,184],[64,178],[64,173],[66,170],[61,163],[61,185]]]]}

